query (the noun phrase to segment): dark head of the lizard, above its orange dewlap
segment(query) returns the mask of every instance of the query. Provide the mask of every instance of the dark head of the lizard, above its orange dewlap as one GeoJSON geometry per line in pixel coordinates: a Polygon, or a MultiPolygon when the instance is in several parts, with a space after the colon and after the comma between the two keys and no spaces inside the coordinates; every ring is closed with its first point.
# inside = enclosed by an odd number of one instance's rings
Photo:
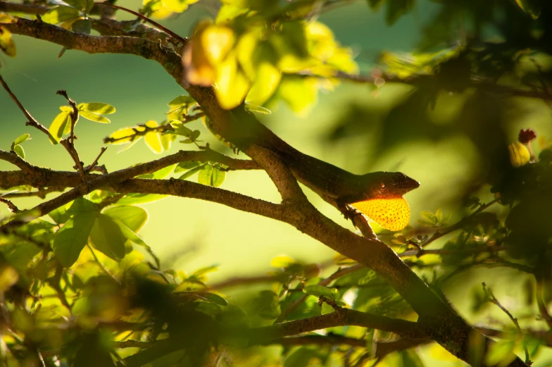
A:
{"type": "Polygon", "coordinates": [[[401,172],[373,172],[363,175],[366,193],[375,199],[402,197],[420,187],[420,182],[401,172]]]}

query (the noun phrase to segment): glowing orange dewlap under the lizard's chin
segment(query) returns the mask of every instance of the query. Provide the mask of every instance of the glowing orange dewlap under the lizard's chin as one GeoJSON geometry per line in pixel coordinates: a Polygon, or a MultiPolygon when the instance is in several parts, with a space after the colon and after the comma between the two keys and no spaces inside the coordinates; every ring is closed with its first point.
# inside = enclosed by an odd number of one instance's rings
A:
{"type": "Polygon", "coordinates": [[[358,201],[351,206],[386,230],[402,230],[410,220],[410,206],[403,197],[358,201]]]}

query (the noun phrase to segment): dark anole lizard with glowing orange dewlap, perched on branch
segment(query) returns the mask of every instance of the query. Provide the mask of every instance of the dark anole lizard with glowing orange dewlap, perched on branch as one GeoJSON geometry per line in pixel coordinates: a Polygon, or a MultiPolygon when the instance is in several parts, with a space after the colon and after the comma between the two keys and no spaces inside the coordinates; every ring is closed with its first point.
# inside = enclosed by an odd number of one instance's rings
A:
{"type": "MultiPolygon", "coordinates": [[[[187,44],[188,40],[168,30],[145,15],[130,11],[122,6],[106,3],[98,5],[111,6],[127,11],[142,20],[158,27],[171,37],[187,44]]],[[[341,213],[350,218],[351,205],[365,216],[374,220],[387,230],[402,230],[410,220],[410,208],[403,195],[416,189],[420,183],[400,172],[374,172],[355,175],[325,161],[301,153],[277,137],[264,125],[258,123],[251,114],[240,106],[232,113],[237,125],[232,135],[246,133],[248,137],[225,137],[244,150],[251,144],[258,144],[275,152],[289,166],[295,177],[303,185],[311,188],[322,199],[334,205],[341,213]]],[[[226,131],[232,129],[225,129],[226,131]]]]}

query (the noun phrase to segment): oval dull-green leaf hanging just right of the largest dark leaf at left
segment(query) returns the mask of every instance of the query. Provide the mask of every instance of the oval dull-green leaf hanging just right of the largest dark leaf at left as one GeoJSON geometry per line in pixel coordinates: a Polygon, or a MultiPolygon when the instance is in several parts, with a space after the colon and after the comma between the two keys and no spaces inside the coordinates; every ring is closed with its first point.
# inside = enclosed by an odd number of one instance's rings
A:
{"type": "Polygon", "coordinates": [[[118,261],[125,257],[127,240],[119,225],[104,214],[98,214],[90,232],[90,240],[96,249],[113,260],[118,261]]]}

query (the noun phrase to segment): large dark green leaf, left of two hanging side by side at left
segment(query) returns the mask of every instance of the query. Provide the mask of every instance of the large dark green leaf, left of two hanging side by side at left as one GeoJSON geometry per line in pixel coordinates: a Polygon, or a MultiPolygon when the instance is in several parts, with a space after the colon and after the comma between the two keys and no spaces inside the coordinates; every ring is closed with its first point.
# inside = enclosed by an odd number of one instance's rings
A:
{"type": "Polygon", "coordinates": [[[73,266],[80,252],[87,244],[90,231],[96,221],[96,213],[79,213],[58,230],[52,249],[56,258],[65,268],[73,266]]]}

